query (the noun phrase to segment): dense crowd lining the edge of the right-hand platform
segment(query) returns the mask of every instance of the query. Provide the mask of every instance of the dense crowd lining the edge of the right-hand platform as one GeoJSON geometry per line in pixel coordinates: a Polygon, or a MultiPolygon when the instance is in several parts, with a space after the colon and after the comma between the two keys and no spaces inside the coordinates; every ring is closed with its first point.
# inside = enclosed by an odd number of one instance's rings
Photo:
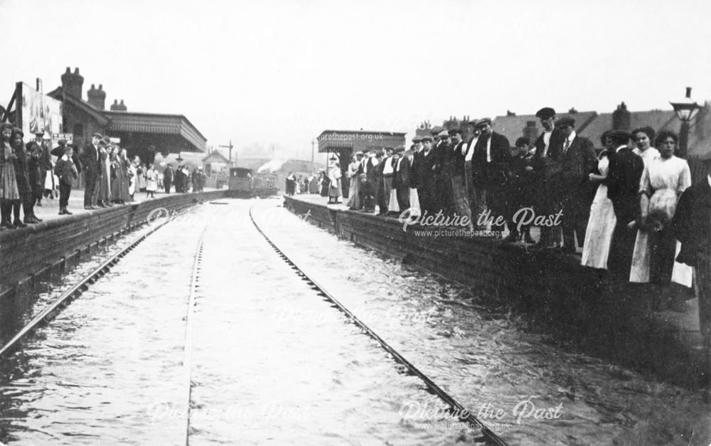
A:
{"type": "MultiPolygon", "coordinates": [[[[578,255],[582,248],[582,265],[608,270],[614,280],[652,283],[659,291],[654,307],[683,309],[683,299],[669,291],[672,281],[690,287],[692,280],[692,262],[676,257],[689,235],[680,233],[688,222],[675,211],[691,186],[687,161],[675,156],[678,136],[651,127],[610,130],[596,152],[575,132],[573,117],[557,119],[550,107],[536,117],[543,132],[535,141],[520,137],[513,147],[483,118],[455,129],[434,127],[407,150],[357,152],[345,179],[333,160],[320,173],[319,192],[337,203],[343,191],[352,210],[377,207],[390,216],[409,210],[466,222],[470,231],[500,222],[507,242],[533,249],[578,255]]],[[[707,234],[704,249],[711,253],[707,234]]]]}

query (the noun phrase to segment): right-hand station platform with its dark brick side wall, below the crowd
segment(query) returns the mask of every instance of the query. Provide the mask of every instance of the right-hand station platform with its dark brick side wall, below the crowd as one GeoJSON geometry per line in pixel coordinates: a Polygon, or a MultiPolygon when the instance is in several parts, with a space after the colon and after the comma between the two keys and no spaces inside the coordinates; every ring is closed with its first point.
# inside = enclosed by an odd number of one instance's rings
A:
{"type": "Polygon", "coordinates": [[[579,253],[501,238],[423,235],[418,225],[405,230],[396,217],[352,211],[316,194],[284,200],[290,211],[341,238],[471,286],[465,299],[513,309],[525,315],[528,329],[683,386],[709,379],[698,302],[688,288],[675,289],[686,298],[683,311],[655,312],[651,286],[614,283],[606,271],[582,267],[579,253]]]}

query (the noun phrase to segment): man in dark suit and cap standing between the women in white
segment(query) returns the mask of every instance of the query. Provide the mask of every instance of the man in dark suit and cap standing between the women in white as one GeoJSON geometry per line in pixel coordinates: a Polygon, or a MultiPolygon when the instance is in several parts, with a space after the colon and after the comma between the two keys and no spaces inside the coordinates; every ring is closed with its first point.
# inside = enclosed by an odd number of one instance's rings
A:
{"type": "Polygon", "coordinates": [[[608,153],[607,197],[612,201],[617,218],[608,266],[610,275],[621,282],[629,281],[637,234],[634,222],[640,212],[639,180],[644,169],[641,157],[628,147],[630,137],[624,130],[614,130],[607,135],[607,140],[616,148],[608,153]]]}

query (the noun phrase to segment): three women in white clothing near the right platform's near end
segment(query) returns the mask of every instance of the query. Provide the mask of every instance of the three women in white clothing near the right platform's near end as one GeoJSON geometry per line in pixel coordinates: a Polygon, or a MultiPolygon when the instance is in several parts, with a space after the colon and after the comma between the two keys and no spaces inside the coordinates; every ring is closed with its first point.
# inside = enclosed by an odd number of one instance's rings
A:
{"type": "MultiPolygon", "coordinates": [[[[639,184],[639,218],[630,225],[630,230],[637,230],[637,236],[629,281],[651,282],[661,287],[661,292],[672,281],[690,287],[691,268],[674,260],[679,243],[671,225],[681,193],[691,186],[687,161],[675,156],[678,136],[666,130],[656,135],[651,127],[642,127],[632,132],[632,138],[636,144],[633,152],[641,156],[644,170],[639,184]]],[[[606,149],[598,156],[599,173],[590,174],[590,181],[600,185],[592,203],[582,253],[582,265],[602,269],[607,268],[616,224],[606,186],[609,154],[616,147],[607,143],[603,134],[606,149]]]]}

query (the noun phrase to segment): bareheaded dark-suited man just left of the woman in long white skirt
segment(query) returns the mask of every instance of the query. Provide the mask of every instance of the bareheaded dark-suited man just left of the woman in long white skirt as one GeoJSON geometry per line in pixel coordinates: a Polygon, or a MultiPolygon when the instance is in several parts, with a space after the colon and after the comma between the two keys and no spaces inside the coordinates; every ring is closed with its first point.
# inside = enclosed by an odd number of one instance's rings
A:
{"type": "Polygon", "coordinates": [[[560,153],[560,171],[550,181],[555,184],[555,196],[560,198],[563,211],[563,251],[575,253],[575,238],[582,244],[590,217],[594,187],[588,176],[595,170],[597,157],[592,142],[575,132],[575,120],[564,117],[558,120],[557,129],[563,138],[560,153]]]}

